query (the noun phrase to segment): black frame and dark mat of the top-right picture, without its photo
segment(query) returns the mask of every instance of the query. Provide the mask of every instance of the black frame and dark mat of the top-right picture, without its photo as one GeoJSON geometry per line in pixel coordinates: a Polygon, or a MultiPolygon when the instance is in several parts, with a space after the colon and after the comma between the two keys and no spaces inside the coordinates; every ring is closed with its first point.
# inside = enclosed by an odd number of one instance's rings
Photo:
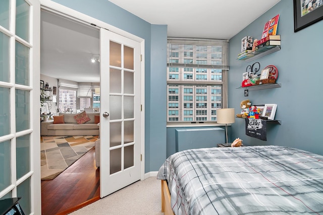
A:
{"type": "Polygon", "coordinates": [[[303,0],[293,0],[294,4],[294,32],[300,31],[320,20],[323,20],[323,5],[302,16],[303,0]]]}

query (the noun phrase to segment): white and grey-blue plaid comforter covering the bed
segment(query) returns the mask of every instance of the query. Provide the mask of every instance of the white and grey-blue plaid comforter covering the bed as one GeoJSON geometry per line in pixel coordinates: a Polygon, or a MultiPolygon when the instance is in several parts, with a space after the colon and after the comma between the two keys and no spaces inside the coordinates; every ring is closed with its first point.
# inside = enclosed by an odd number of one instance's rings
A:
{"type": "Polygon", "coordinates": [[[170,156],[175,214],[323,214],[323,156],[278,147],[208,148],[170,156]]]}

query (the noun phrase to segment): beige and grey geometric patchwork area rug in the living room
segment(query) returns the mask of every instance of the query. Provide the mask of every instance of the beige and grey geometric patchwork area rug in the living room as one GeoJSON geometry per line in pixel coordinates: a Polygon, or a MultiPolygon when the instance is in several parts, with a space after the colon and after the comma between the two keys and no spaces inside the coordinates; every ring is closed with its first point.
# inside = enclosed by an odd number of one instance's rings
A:
{"type": "Polygon", "coordinates": [[[95,145],[98,136],[41,136],[41,180],[51,180],[95,145]]]}

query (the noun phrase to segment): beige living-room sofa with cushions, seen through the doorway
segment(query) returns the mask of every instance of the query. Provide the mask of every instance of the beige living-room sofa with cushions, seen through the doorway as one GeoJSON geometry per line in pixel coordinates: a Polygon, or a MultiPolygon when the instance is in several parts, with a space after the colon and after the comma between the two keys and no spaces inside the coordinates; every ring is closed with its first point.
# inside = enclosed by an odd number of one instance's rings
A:
{"type": "Polygon", "coordinates": [[[77,122],[77,120],[74,117],[75,115],[80,116],[79,114],[84,115],[84,112],[60,113],[59,117],[56,118],[56,116],[54,116],[54,120],[41,122],[40,135],[41,136],[99,135],[99,125],[97,123],[99,122],[100,113],[98,112],[86,113],[86,116],[90,120],[86,122],[81,122],[80,124],[77,122]],[[64,122],[62,121],[62,119],[64,119],[64,122]]]}

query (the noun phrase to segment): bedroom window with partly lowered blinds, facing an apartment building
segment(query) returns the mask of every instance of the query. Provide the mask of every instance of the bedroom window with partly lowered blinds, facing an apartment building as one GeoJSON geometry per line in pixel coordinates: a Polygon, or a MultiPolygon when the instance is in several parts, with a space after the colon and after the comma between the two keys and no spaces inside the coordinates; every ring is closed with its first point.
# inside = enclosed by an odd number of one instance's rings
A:
{"type": "Polygon", "coordinates": [[[216,121],[227,107],[228,51],[227,40],[168,38],[168,122],[216,121]]]}

